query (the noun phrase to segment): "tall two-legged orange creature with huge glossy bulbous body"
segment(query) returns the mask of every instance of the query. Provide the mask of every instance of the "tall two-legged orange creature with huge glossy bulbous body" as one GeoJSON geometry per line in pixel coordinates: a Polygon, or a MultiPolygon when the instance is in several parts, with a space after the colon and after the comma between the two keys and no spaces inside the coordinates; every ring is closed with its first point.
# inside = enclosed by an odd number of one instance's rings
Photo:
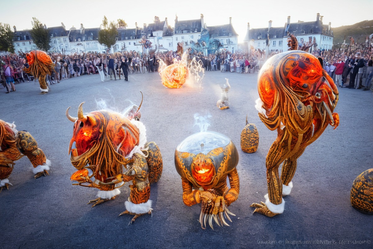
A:
{"type": "Polygon", "coordinates": [[[316,57],[293,50],[267,60],[259,72],[258,91],[258,115],[278,135],[266,158],[266,202],[251,206],[254,212],[272,217],[284,210],[282,196],[291,192],[297,159],[329,124],[338,126],[339,115],[333,113],[338,89],[316,57]]]}

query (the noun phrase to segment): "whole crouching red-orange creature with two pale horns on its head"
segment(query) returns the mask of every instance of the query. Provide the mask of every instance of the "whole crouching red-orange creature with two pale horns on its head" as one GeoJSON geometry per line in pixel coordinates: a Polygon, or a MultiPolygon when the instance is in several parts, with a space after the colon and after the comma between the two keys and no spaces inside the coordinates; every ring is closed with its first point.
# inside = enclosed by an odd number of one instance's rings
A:
{"type": "Polygon", "coordinates": [[[73,185],[97,188],[98,198],[88,202],[95,206],[115,199],[120,194],[118,188],[132,180],[126,211],[120,215],[135,215],[135,221],[140,215],[151,214],[150,184],[159,180],[163,168],[157,144],[147,143],[145,126],[136,120],[139,115],[125,117],[105,110],[84,115],[83,103],[77,118],[66,110],[67,118],[74,122],[69,153],[78,171],[70,179],[78,183],[73,185]]]}

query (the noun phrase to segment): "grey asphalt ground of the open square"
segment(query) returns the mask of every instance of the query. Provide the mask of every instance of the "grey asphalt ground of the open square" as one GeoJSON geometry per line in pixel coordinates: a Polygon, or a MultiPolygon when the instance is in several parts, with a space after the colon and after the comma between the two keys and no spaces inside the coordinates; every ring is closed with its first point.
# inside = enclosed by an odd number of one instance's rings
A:
{"type": "Polygon", "coordinates": [[[34,179],[26,157],[16,161],[9,190],[0,193],[0,248],[372,248],[373,216],[350,203],[354,179],[372,168],[373,101],[371,91],[338,88],[340,125],[326,128],[298,159],[294,188],[285,199],[285,211],[273,218],[253,214],[253,202],[267,193],[265,158],[276,131],[268,130],[254,108],[258,98],[257,74],[206,72],[202,87],[185,85],[168,89],[157,73],[129,75],[122,80],[100,81],[84,75],[51,85],[39,95],[38,83],[16,85],[16,92],[0,88],[1,115],[27,130],[52,162],[50,176],[34,179]],[[229,78],[229,109],[220,110],[219,85],[229,78]],[[140,104],[148,141],[155,141],[163,156],[163,174],[151,186],[153,216],[143,215],[129,225],[125,211],[128,184],[115,200],[94,208],[96,189],[72,186],[75,168],[68,155],[73,123],[65,116],[95,111],[100,100],[116,111],[132,101],[140,104]],[[229,210],[236,214],[230,227],[201,229],[200,204],[182,201],[181,179],[174,165],[176,146],[199,131],[194,115],[211,115],[208,130],[223,133],[239,152],[240,192],[229,210]],[[256,153],[240,150],[245,116],[259,132],[256,153]]]}

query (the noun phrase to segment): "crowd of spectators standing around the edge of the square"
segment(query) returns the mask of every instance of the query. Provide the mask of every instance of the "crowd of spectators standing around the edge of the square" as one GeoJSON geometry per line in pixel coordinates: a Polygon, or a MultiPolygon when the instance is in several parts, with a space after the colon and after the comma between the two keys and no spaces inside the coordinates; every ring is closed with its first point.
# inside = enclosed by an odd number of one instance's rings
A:
{"type": "MultiPolygon", "coordinates": [[[[264,51],[251,49],[236,50],[236,52],[232,53],[223,49],[214,54],[203,55],[201,52],[191,53],[190,51],[187,50],[188,61],[196,57],[197,61],[200,61],[201,66],[205,68],[205,71],[236,73],[257,73],[269,57],[280,52],[272,51],[266,54],[264,51]]],[[[352,84],[351,88],[355,89],[364,88],[364,90],[368,90],[370,88],[373,74],[372,44],[362,43],[348,48],[328,51],[314,50],[311,53],[316,57],[322,58],[323,68],[338,86],[351,87],[352,84]],[[360,55],[360,57],[357,57],[357,55],[360,55]],[[343,70],[341,69],[342,63],[343,70]],[[363,63],[363,66],[359,66],[358,63],[359,65],[363,63]],[[357,69],[354,70],[356,66],[360,68],[358,72],[357,69]],[[351,79],[355,80],[355,82],[349,82],[347,86],[348,78],[350,81],[351,79]],[[357,81],[359,82],[358,84],[357,81]]],[[[49,55],[55,63],[55,70],[58,74],[55,75],[53,72],[53,75],[47,76],[46,80],[49,84],[59,83],[61,79],[98,74],[98,65],[103,65],[104,75],[108,75],[109,55],[106,53],[75,53],[71,55],[49,53],[49,55]]],[[[170,65],[175,60],[181,59],[181,55],[173,51],[158,52],[151,56],[146,56],[136,51],[125,51],[123,53],[110,54],[110,57],[114,59],[114,70],[119,79],[120,75],[123,74],[121,63],[124,62],[128,65],[128,74],[142,74],[158,71],[160,60],[163,60],[166,65],[170,65]]],[[[1,81],[3,81],[4,88],[7,89],[7,93],[10,90],[15,91],[14,84],[21,83],[21,81],[37,81],[32,75],[23,71],[23,67],[28,66],[27,63],[24,64],[23,56],[10,54],[1,56],[0,59],[1,81]]]]}

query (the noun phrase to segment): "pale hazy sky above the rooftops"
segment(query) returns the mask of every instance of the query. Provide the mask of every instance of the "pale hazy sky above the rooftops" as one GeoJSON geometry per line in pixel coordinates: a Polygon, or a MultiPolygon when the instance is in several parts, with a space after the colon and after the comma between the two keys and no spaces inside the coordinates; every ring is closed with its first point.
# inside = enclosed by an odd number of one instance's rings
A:
{"type": "Polygon", "coordinates": [[[47,27],[60,26],[63,22],[66,29],[80,28],[81,23],[85,28],[94,28],[100,26],[105,15],[109,21],[121,18],[128,28],[135,28],[135,22],[142,27],[144,23],[153,23],[154,16],[158,16],[161,21],[167,17],[173,28],[175,15],[179,20],[189,20],[199,19],[201,13],[207,26],[228,24],[232,17],[233,28],[242,42],[248,22],[250,28],[268,27],[269,20],[272,20],[272,27],[283,27],[288,16],[291,16],[291,22],[307,22],[316,20],[317,13],[324,16],[324,24],[331,22],[332,28],[371,20],[373,0],[18,0],[1,2],[0,22],[11,27],[15,25],[17,30],[31,29],[35,16],[47,27]]]}

